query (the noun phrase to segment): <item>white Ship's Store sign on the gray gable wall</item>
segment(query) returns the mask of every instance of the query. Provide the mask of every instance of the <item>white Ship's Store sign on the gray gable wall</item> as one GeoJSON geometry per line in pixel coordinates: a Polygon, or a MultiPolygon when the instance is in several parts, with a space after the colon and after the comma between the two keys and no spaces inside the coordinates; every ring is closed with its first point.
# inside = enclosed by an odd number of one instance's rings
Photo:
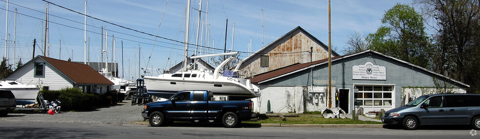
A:
{"type": "Polygon", "coordinates": [[[387,80],[387,68],[366,62],[352,67],[352,79],[387,80]]]}

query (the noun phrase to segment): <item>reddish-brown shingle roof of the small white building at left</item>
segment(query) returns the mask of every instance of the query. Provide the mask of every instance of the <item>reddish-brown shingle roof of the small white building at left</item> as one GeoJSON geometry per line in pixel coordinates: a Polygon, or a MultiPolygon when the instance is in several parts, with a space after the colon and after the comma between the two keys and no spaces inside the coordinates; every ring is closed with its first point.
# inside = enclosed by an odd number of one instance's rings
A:
{"type": "Polygon", "coordinates": [[[89,65],[38,56],[77,84],[114,84],[89,65]]]}

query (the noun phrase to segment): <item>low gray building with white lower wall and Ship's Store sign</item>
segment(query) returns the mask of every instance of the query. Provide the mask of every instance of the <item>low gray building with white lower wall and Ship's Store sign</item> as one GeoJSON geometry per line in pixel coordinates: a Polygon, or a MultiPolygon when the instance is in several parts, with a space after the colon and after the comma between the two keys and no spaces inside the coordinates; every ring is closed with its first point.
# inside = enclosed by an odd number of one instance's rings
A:
{"type": "Polygon", "coordinates": [[[340,107],[349,113],[389,110],[419,96],[466,93],[469,85],[412,63],[366,50],[332,59],[332,89],[328,89],[328,60],[296,63],[251,79],[262,92],[255,111],[274,113],[320,111],[340,107]]]}

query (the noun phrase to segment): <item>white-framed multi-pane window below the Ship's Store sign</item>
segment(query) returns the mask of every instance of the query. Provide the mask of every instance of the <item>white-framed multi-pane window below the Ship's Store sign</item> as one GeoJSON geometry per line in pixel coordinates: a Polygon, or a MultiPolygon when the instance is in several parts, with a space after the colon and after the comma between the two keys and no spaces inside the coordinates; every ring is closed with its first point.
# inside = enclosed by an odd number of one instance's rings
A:
{"type": "Polygon", "coordinates": [[[354,94],[356,106],[393,106],[392,95],[394,86],[357,86],[354,94]]]}

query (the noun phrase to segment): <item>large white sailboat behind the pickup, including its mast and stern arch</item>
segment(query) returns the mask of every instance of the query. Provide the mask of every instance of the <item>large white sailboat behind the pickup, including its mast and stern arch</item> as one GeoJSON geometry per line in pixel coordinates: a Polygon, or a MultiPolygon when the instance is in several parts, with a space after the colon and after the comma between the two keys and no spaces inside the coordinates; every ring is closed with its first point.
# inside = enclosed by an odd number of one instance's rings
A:
{"type": "MultiPolygon", "coordinates": [[[[188,69],[187,53],[188,53],[188,26],[189,26],[189,10],[190,0],[188,0],[187,16],[185,23],[185,53],[183,70],[173,74],[164,73],[159,76],[144,76],[145,86],[148,94],[168,99],[178,91],[182,90],[208,90],[214,96],[221,96],[224,99],[242,100],[260,97],[260,89],[250,82],[250,79],[240,79],[236,73],[242,63],[242,60],[230,57],[218,65],[214,71],[207,69],[188,69]],[[232,71],[225,70],[220,75],[220,69],[231,60],[239,62],[232,71]]],[[[197,34],[198,36],[198,34],[197,34]]],[[[224,54],[212,54],[204,56],[194,56],[190,59],[197,59],[211,56],[235,55],[236,52],[224,54]]],[[[195,64],[193,63],[194,66],[195,64]]]]}

